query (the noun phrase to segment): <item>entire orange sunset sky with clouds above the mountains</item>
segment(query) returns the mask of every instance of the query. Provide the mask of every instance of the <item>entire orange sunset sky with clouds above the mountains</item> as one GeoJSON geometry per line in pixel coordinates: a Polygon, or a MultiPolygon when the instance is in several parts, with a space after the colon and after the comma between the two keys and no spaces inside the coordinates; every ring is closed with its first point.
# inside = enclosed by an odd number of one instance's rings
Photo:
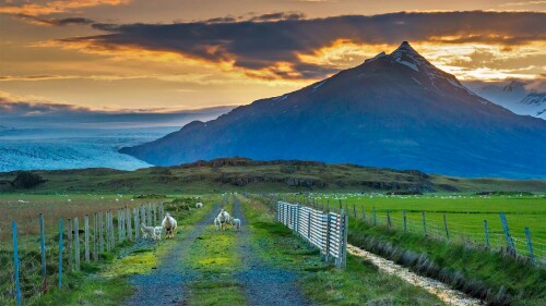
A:
{"type": "Polygon", "coordinates": [[[403,40],[463,82],[545,88],[541,0],[0,0],[0,111],[246,105],[403,40]]]}

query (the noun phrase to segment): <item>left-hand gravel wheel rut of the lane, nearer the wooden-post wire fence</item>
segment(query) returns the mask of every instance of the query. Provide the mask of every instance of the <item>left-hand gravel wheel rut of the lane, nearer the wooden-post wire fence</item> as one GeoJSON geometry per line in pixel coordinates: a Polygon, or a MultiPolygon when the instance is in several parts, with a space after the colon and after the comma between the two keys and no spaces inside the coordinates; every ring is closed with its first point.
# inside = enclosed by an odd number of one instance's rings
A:
{"type": "Polygon", "coordinates": [[[159,265],[149,274],[131,277],[129,282],[136,287],[124,305],[187,305],[186,285],[194,279],[194,271],[188,265],[188,249],[216,217],[219,204],[195,227],[180,238],[167,254],[159,258],[159,265]]]}

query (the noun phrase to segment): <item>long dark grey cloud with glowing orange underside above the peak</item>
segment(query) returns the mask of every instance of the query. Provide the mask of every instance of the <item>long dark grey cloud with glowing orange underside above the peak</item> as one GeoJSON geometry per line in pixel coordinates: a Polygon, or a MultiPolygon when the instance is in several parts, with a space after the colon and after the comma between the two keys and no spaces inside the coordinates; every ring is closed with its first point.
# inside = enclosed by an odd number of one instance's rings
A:
{"type": "Polygon", "coordinates": [[[411,40],[507,46],[546,39],[546,13],[541,12],[400,12],[302,17],[299,13],[273,13],[246,21],[226,17],[175,24],[94,24],[109,34],[61,41],[88,42],[104,49],[170,51],[207,62],[234,61],[236,68],[249,75],[260,75],[260,71],[266,70],[281,78],[316,78],[332,71],[300,62],[298,53],[311,53],[339,39],[369,45],[411,40]],[[280,62],[294,64],[296,73],[278,69],[280,62]]]}

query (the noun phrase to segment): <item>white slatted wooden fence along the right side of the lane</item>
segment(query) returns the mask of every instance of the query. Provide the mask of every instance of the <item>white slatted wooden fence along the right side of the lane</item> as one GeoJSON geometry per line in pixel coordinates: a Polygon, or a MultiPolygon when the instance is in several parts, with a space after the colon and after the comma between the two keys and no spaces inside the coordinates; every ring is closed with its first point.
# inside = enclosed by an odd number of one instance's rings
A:
{"type": "Polygon", "coordinates": [[[299,204],[277,201],[277,221],[318,247],[327,261],[345,268],[347,261],[348,217],[324,212],[299,204]]]}

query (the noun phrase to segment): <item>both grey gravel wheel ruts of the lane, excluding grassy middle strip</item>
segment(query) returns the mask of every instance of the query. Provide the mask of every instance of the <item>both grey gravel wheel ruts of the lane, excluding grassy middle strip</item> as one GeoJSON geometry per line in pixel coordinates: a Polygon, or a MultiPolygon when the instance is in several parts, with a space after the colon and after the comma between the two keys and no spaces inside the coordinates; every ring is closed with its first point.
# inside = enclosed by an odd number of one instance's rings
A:
{"type": "MultiPolygon", "coordinates": [[[[159,265],[150,274],[138,274],[130,279],[136,292],[130,296],[124,305],[187,305],[187,285],[198,280],[198,272],[192,270],[188,262],[188,249],[195,240],[212,224],[219,205],[199,221],[191,232],[179,240],[176,246],[159,258],[159,265]]],[[[311,305],[296,286],[296,278],[292,271],[276,268],[265,262],[257,253],[252,243],[248,221],[242,213],[240,203],[234,203],[234,216],[242,222],[242,229],[236,234],[237,253],[242,268],[236,273],[249,305],[298,306],[311,305]]],[[[222,232],[217,232],[222,234],[222,232]]]]}

